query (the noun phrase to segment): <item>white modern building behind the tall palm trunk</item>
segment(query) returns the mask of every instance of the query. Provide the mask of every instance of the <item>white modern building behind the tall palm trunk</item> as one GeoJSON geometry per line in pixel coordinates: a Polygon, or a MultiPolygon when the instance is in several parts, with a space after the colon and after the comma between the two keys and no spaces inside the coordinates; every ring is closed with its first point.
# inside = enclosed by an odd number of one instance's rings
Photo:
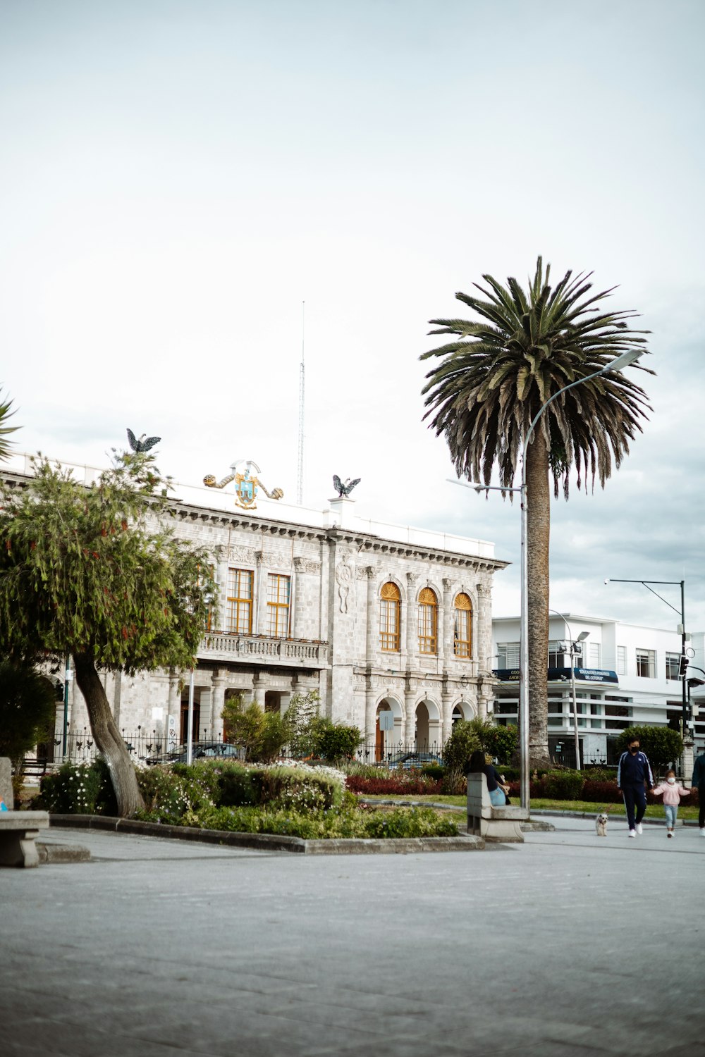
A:
{"type": "MultiPolygon", "coordinates": [[[[571,649],[578,738],[586,763],[614,763],[619,731],[635,723],[671,724],[680,729],[683,680],[679,676],[682,637],[672,630],[606,617],[551,613],[549,625],[549,748],[554,759],[575,762],[571,649]],[[578,642],[578,639],[581,639],[578,642]]],[[[705,635],[689,636],[688,675],[702,678],[705,635]]],[[[495,717],[516,723],[519,706],[519,617],[493,620],[495,717]]],[[[705,747],[705,686],[689,687],[695,748],[705,747]],[[700,702],[701,715],[698,715],[700,702]]]]}

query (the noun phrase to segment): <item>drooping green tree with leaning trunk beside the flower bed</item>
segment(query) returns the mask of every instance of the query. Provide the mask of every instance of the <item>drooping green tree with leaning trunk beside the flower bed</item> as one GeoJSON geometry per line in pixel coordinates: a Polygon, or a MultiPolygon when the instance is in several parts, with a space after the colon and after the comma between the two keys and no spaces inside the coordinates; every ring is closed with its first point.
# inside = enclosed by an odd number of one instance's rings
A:
{"type": "Polygon", "coordinates": [[[0,648],[71,655],[118,812],[131,816],[142,796],[99,672],[196,664],[212,557],[175,538],[153,456],[116,456],[88,487],[47,459],[33,465],[26,487],[0,485],[0,648]]]}

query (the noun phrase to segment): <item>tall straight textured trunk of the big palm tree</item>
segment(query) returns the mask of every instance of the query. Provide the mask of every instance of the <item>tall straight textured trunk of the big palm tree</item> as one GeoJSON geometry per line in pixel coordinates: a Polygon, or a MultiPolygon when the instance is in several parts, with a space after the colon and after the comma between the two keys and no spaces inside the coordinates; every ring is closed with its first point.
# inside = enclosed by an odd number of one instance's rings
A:
{"type": "Polygon", "coordinates": [[[526,452],[526,577],[528,596],[528,758],[549,763],[549,451],[540,428],[526,452]]]}

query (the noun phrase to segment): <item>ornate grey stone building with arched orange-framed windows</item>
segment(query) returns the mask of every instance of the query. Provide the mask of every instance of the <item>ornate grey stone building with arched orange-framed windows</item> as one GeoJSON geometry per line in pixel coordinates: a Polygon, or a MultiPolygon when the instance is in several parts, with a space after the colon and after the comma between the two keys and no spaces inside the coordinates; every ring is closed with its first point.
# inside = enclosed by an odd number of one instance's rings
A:
{"type": "MultiPolygon", "coordinates": [[[[3,472],[19,483],[29,469],[15,457],[3,472]]],[[[491,582],[506,564],[493,543],[363,520],[347,497],[320,512],[243,493],[243,508],[218,487],[174,489],[178,534],[214,553],[220,595],[193,676],[197,740],[222,737],[236,693],[283,711],[316,689],[321,712],[365,733],[368,758],[432,750],[453,717],[491,710],[491,582]]],[[[105,685],[128,740],[186,739],[189,686],[175,673],[107,673],[105,685]]],[[[73,683],[69,702],[69,731],[90,729],[73,683]]]]}

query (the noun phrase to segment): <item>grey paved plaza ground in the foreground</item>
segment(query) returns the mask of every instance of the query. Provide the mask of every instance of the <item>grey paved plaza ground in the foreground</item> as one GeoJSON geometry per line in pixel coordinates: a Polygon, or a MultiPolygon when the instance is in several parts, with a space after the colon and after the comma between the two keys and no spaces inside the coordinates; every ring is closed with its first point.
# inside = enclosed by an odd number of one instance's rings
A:
{"type": "Polygon", "coordinates": [[[705,1055],[705,839],[303,856],[56,831],[0,872],[0,1053],[705,1055]]]}

